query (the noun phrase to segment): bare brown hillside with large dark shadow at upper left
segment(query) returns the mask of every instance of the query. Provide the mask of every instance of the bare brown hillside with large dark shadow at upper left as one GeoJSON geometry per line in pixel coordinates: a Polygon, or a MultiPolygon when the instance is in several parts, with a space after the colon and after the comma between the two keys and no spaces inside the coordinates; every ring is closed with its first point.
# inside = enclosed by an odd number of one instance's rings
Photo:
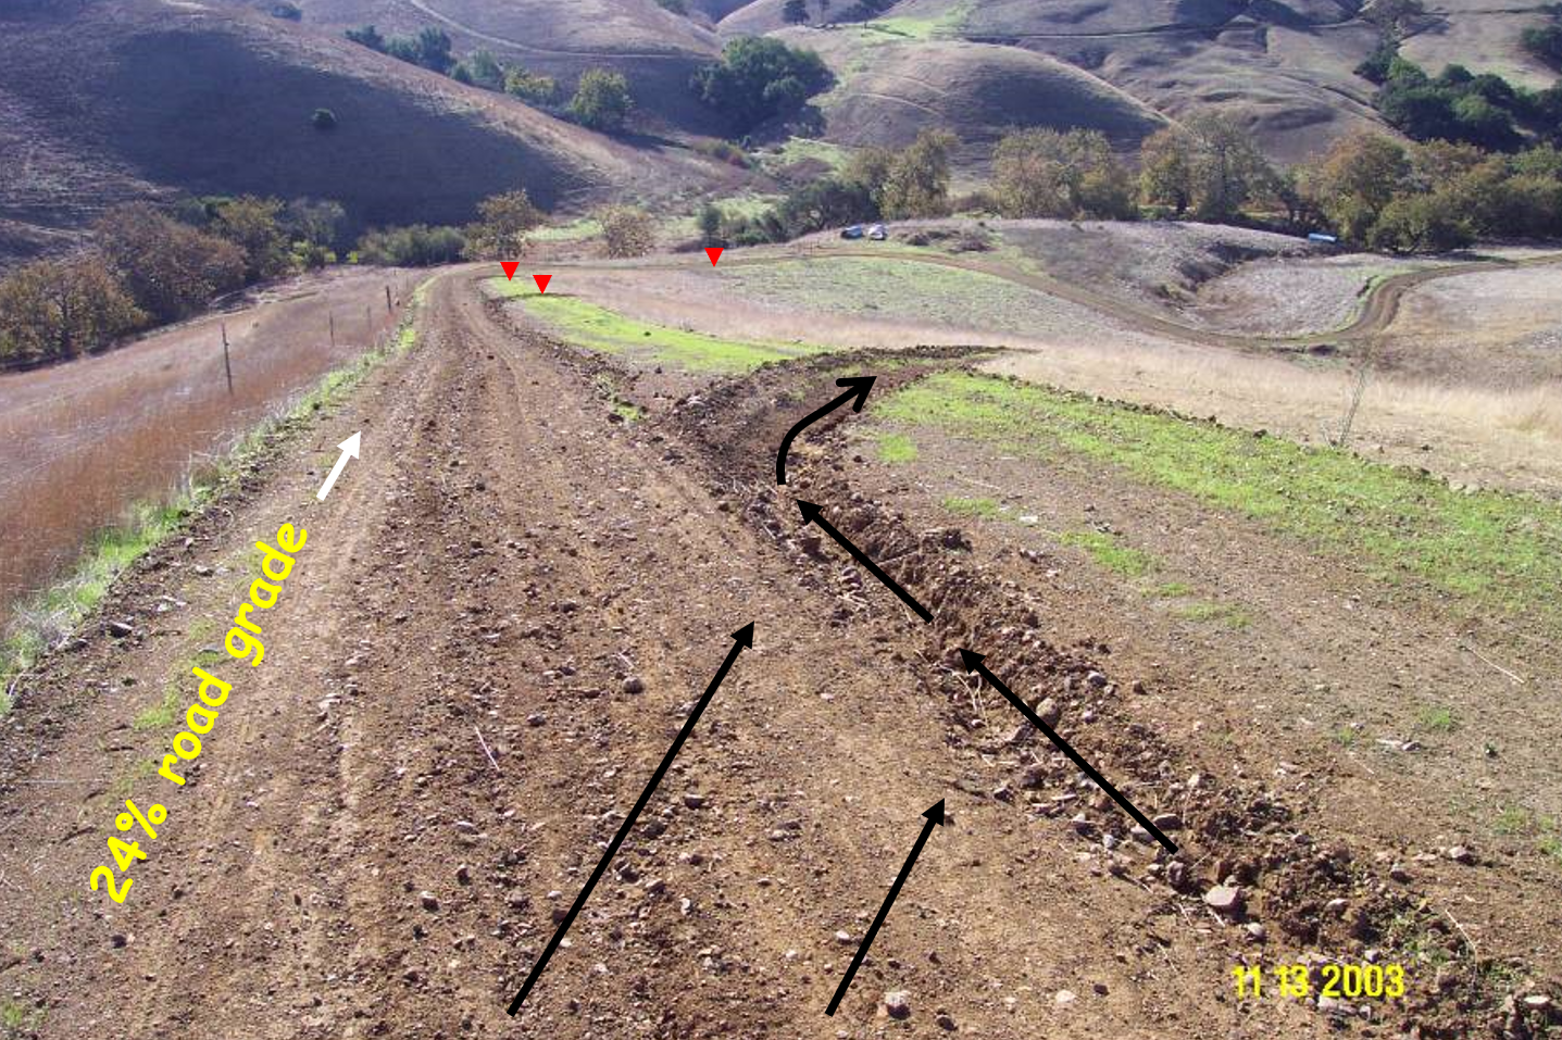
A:
{"type": "Polygon", "coordinates": [[[462,222],[519,186],[551,208],[736,176],[247,9],[130,0],[3,19],[0,222],[12,230],[0,223],[0,250],[11,242],[12,258],[108,205],[177,191],[334,198],[366,226],[462,222]],[[311,125],[317,108],[334,130],[311,125]]]}

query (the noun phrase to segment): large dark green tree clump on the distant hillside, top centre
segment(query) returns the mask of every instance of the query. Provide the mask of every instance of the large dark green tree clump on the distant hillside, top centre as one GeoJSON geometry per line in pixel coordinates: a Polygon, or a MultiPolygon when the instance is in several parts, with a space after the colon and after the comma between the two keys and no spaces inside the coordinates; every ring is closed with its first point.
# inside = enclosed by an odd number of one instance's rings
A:
{"type": "Polygon", "coordinates": [[[828,84],[823,58],[769,36],[734,39],[722,50],[720,61],[690,80],[695,95],[720,112],[736,134],[797,114],[828,84]]]}

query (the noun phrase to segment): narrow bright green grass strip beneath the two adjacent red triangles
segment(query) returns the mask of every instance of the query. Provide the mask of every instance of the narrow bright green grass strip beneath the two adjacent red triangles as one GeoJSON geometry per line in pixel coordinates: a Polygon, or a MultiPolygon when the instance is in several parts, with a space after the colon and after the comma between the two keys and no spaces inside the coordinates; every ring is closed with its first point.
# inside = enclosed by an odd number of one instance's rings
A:
{"type": "Polygon", "coordinates": [[[733,375],[758,369],[767,361],[787,361],[828,350],[808,344],[722,339],[665,325],[645,325],[580,297],[540,295],[530,286],[498,280],[492,284],[503,295],[523,297],[533,317],[551,325],[572,344],[684,372],[733,375]]]}

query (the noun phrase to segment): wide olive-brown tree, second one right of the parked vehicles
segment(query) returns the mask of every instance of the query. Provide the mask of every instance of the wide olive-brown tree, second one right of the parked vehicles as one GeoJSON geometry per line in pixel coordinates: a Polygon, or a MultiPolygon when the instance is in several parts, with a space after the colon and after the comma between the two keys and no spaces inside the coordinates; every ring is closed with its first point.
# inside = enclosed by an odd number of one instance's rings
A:
{"type": "Polygon", "coordinates": [[[1098,130],[1022,130],[998,142],[993,194],[1004,217],[1136,215],[1128,170],[1098,130]]]}

